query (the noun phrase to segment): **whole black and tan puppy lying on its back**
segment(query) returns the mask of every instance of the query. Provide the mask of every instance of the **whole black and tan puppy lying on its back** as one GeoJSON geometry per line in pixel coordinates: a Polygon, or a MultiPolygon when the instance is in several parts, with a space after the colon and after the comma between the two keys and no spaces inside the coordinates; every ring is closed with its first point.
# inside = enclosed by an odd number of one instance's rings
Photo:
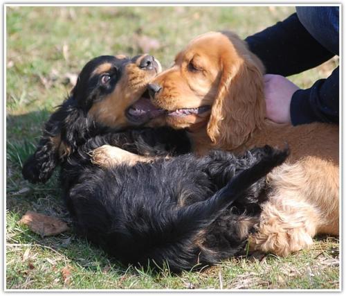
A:
{"type": "Polygon", "coordinates": [[[158,70],[149,56],[91,60],[46,123],[23,174],[44,182],[62,164],[64,200],[78,233],[124,263],[189,270],[244,250],[265,175],[287,151],[266,146],[242,157],[212,151],[199,158],[186,153],[183,131],[122,131],[150,119],[138,114],[151,108],[143,92],[158,70]],[[113,157],[102,163],[104,144],[113,146],[113,157]]]}

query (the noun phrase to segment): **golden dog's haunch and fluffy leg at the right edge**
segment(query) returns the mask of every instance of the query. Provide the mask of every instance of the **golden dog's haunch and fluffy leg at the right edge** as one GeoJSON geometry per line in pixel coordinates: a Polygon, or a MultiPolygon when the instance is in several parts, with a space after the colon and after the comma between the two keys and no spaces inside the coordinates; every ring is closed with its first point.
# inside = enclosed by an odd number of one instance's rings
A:
{"type": "Polygon", "coordinates": [[[338,235],[338,168],[309,157],[268,175],[272,191],[262,205],[251,249],[286,256],[313,243],[316,234],[338,235]]]}

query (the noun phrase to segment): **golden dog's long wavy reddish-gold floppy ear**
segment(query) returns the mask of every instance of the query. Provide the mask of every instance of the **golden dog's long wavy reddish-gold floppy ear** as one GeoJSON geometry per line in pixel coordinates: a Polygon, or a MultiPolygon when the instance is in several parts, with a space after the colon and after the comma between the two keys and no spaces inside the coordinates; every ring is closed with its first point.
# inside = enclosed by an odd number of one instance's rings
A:
{"type": "Polygon", "coordinates": [[[264,67],[252,53],[236,61],[228,56],[221,63],[219,89],[212,105],[207,133],[215,146],[235,149],[264,122],[264,67]]]}

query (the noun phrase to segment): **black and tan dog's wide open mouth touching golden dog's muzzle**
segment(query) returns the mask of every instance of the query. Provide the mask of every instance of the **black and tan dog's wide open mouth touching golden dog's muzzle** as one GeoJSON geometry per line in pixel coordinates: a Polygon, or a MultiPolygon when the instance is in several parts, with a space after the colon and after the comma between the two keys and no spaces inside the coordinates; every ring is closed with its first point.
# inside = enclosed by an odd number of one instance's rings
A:
{"type": "Polygon", "coordinates": [[[126,110],[125,114],[131,123],[139,125],[165,114],[165,110],[156,108],[150,101],[149,93],[146,91],[136,103],[126,110]]]}

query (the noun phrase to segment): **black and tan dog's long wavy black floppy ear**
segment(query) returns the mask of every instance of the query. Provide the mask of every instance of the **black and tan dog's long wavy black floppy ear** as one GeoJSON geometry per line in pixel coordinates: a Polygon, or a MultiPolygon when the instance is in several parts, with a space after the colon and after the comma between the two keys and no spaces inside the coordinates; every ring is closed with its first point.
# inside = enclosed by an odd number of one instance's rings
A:
{"type": "Polygon", "coordinates": [[[86,124],[84,113],[74,99],[66,99],[46,122],[35,153],[23,166],[24,179],[31,183],[45,183],[55,167],[75,151],[87,130],[86,124]]]}

